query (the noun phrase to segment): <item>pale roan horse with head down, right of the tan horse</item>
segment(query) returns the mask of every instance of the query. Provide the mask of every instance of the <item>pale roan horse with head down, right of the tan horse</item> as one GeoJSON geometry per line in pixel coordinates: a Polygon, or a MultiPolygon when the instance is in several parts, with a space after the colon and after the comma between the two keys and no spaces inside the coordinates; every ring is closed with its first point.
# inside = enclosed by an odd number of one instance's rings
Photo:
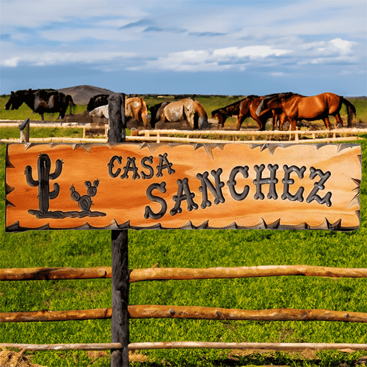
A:
{"type": "Polygon", "coordinates": [[[192,129],[202,129],[209,125],[204,108],[198,101],[191,98],[183,98],[167,104],[159,123],[164,125],[167,121],[186,121],[192,129]]]}

